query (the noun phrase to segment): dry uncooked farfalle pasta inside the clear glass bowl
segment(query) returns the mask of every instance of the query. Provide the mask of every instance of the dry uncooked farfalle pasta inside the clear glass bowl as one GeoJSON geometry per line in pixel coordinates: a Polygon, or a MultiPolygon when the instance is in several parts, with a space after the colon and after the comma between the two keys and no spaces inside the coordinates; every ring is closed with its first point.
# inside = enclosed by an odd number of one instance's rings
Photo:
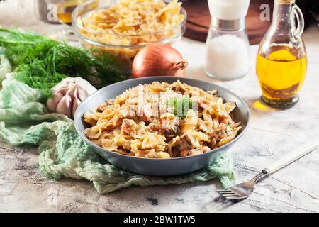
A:
{"type": "MultiPolygon", "coordinates": [[[[184,21],[180,11],[181,3],[177,0],[169,4],[162,0],[121,0],[111,7],[77,18],[77,23],[84,27],[79,33],[86,38],[129,47],[155,43],[180,33],[179,25],[184,21]]],[[[105,50],[129,60],[140,49],[109,47],[105,50]]]]}

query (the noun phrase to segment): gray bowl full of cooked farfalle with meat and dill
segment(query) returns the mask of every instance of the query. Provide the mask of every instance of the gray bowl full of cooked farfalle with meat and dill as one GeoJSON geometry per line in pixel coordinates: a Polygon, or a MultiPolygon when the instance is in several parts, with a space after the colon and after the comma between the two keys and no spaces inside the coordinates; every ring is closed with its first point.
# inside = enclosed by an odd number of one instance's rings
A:
{"type": "Polygon", "coordinates": [[[245,133],[250,111],[233,92],[196,79],[142,77],[91,94],[74,114],[84,145],[143,175],[201,169],[245,133]]]}

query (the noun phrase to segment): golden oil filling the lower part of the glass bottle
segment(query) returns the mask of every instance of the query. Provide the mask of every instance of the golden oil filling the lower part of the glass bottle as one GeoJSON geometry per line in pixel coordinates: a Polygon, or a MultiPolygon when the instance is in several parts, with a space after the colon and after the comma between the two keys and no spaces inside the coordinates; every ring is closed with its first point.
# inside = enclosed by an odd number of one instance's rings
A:
{"type": "Polygon", "coordinates": [[[267,102],[295,99],[306,77],[306,68],[306,56],[298,58],[286,47],[267,57],[258,54],[256,70],[262,99],[267,102]]]}

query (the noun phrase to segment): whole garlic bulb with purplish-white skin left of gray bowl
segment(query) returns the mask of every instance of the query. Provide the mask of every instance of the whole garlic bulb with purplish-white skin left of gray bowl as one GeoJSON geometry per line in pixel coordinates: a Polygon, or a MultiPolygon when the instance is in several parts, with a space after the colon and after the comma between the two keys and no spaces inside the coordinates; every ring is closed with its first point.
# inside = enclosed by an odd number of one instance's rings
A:
{"type": "Polygon", "coordinates": [[[73,118],[77,106],[81,104],[87,96],[96,92],[96,88],[81,77],[67,77],[52,88],[53,96],[47,99],[47,109],[49,111],[65,114],[73,118]]]}

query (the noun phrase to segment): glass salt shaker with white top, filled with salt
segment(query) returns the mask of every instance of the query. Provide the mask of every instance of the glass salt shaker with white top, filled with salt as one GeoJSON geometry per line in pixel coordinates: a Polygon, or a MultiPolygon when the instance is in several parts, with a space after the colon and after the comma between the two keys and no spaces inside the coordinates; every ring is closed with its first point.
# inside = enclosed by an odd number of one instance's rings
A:
{"type": "Polygon", "coordinates": [[[250,72],[245,26],[250,0],[208,0],[211,26],[206,40],[205,72],[223,79],[240,79],[250,72]]]}

